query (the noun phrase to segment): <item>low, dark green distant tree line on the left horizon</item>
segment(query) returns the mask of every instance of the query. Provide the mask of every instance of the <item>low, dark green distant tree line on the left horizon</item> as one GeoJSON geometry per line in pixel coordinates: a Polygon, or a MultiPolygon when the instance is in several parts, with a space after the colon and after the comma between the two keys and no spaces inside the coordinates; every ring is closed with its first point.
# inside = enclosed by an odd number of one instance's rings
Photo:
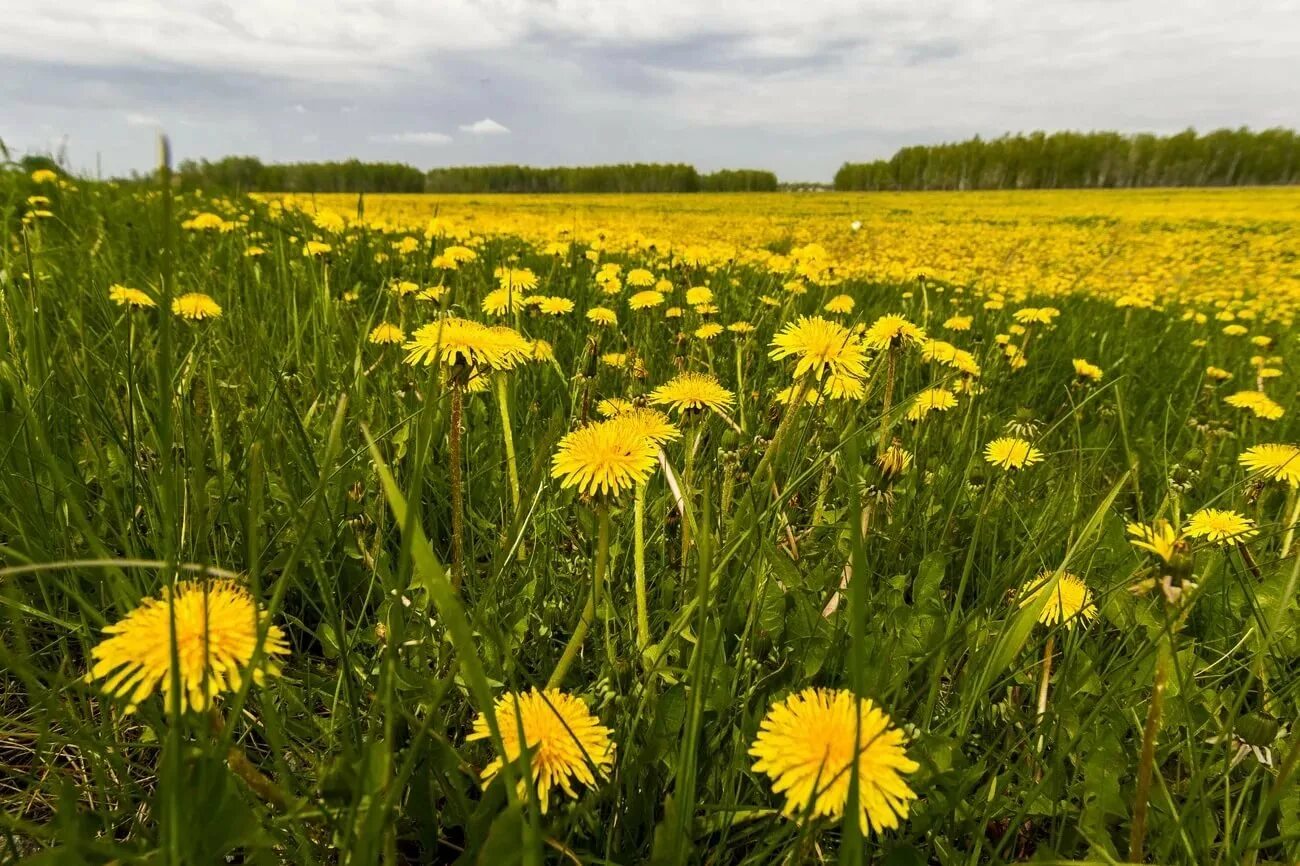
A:
{"type": "Polygon", "coordinates": [[[776,176],[751,169],[702,174],[692,165],[630,163],[582,168],[474,165],[422,172],[400,163],[290,163],[251,156],[186,160],[185,189],[237,192],[754,192],[776,189],[776,176]]]}

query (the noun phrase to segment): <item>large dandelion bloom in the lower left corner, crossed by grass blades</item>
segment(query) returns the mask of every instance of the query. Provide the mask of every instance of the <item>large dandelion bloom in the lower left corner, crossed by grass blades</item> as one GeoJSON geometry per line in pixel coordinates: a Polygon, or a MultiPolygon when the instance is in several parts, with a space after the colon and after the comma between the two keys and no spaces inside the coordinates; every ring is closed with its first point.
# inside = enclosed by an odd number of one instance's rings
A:
{"type": "Polygon", "coordinates": [[[153,694],[159,684],[170,701],[174,654],[181,709],[207,710],[217,694],[238,692],[244,676],[261,683],[265,674],[280,674],[269,657],[289,653],[289,646],[276,625],[266,625],[266,658],[260,667],[248,670],[264,622],[265,614],[248,592],[233,581],[182,581],[174,592],[164,589],[160,597],[146,599],[104,628],[112,637],[91,650],[95,664],[86,679],[104,680],[104,692],[129,701],[127,711],[153,694]]]}

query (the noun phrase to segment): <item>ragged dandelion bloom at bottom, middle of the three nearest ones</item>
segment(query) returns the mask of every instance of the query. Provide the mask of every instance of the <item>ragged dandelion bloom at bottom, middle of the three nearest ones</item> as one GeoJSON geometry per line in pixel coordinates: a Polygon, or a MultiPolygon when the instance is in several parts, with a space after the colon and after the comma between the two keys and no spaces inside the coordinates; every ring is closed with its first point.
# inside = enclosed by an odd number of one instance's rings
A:
{"type": "MultiPolygon", "coordinates": [[[[497,716],[497,729],[506,754],[504,758],[497,755],[484,768],[484,781],[491,781],[506,761],[514,763],[523,754],[519,737],[523,728],[523,742],[528,744],[529,765],[543,813],[549,806],[551,788],[558,787],[569,797],[577,797],[575,781],[594,788],[597,774],[608,778],[614,767],[610,728],[602,726],[586,705],[572,694],[559,689],[538,692],[536,688],[525,694],[507,694],[497,701],[493,714],[497,716]]],[[[489,737],[488,716],[480,713],[474,719],[473,733],[465,739],[489,737]]],[[[524,780],[519,784],[519,796],[526,797],[524,780]]]]}

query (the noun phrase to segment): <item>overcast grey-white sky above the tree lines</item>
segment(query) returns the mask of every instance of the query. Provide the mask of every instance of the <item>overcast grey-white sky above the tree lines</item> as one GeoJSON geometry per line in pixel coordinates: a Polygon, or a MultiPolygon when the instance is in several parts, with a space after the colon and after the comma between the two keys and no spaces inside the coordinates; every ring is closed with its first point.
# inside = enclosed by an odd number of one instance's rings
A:
{"type": "Polygon", "coordinates": [[[0,0],[0,138],[74,168],[845,160],[1300,126],[1300,0],[0,0]]]}

